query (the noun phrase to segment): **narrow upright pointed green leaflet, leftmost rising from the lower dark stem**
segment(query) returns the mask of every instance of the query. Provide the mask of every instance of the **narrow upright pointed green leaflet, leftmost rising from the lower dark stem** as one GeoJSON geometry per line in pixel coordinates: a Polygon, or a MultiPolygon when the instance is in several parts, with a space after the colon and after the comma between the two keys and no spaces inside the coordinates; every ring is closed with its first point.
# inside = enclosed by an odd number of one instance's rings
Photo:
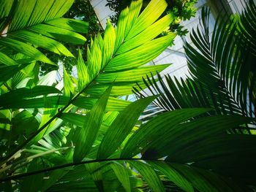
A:
{"type": "Polygon", "coordinates": [[[102,118],[105,114],[105,107],[107,105],[110,91],[111,87],[105,91],[102,97],[91,109],[91,112],[89,112],[88,115],[88,121],[83,124],[82,128],[75,131],[74,161],[81,161],[87,155],[87,153],[89,153],[102,123],[102,118]]]}

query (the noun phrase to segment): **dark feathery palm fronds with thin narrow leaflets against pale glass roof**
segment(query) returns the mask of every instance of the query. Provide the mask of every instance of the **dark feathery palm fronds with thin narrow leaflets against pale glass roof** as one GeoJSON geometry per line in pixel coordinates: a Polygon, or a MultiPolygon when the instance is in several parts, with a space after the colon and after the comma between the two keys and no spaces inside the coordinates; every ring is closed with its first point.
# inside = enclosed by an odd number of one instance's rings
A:
{"type": "Polygon", "coordinates": [[[189,43],[184,46],[191,77],[177,80],[158,74],[156,79],[151,75],[143,80],[147,92],[138,86],[135,94],[141,98],[161,94],[155,104],[165,111],[213,107],[215,114],[255,117],[255,54],[251,42],[256,28],[248,19],[255,17],[253,10],[255,4],[250,1],[240,19],[217,22],[210,35],[209,9],[204,8],[200,25],[190,34],[196,49],[189,43]]]}

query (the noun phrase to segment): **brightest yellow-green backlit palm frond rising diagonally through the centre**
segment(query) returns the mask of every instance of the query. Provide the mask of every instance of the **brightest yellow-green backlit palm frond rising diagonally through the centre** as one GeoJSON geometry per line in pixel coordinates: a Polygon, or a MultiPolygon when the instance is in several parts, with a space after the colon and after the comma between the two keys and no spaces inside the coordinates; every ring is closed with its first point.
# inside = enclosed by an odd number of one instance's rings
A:
{"type": "MultiPolygon", "coordinates": [[[[78,93],[72,93],[73,91],[71,90],[72,92],[70,92],[69,89],[69,92],[74,94],[72,99],[69,99],[67,96],[63,96],[62,94],[59,94],[58,96],[47,96],[46,99],[50,102],[52,107],[55,107],[55,110],[56,107],[62,108],[59,112],[56,110],[56,114],[50,115],[50,118],[48,118],[49,122],[45,121],[45,123],[53,122],[61,115],[61,112],[67,112],[67,108],[70,104],[78,104],[78,101],[76,101],[77,99],[87,99],[89,102],[90,99],[91,101],[95,101],[95,97],[98,99],[110,85],[113,85],[110,96],[121,96],[127,94],[127,92],[131,93],[131,85],[135,82],[141,83],[140,77],[143,74],[145,75],[148,71],[156,74],[157,70],[161,71],[167,67],[167,65],[150,67],[143,67],[142,65],[159,55],[159,53],[161,53],[162,50],[165,50],[165,48],[170,45],[170,42],[173,41],[173,38],[175,37],[175,34],[173,33],[169,33],[165,37],[158,37],[166,26],[172,22],[173,17],[171,14],[168,14],[164,18],[155,22],[167,5],[163,0],[151,1],[151,4],[149,4],[149,7],[151,8],[145,9],[141,15],[138,15],[141,4],[142,1],[133,2],[130,8],[123,11],[117,30],[113,28],[111,23],[108,23],[104,38],[98,34],[94,40],[91,40],[91,46],[88,47],[87,53],[88,61],[84,62],[81,53],[78,54],[78,90],[76,90],[78,93]],[[154,8],[152,7],[153,4],[157,6],[161,5],[161,9],[154,12],[154,8]],[[154,14],[152,14],[152,12],[154,12],[154,14]],[[148,18],[145,25],[143,24],[141,28],[138,28],[138,25],[140,25],[138,23],[141,23],[142,20],[144,20],[143,15],[151,15],[151,17],[148,18]],[[154,28],[154,25],[157,25],[158,28],[154,28]],[[159,28],[162,29],[159,30],[159,28]],[[148,31],[151,31],[151,33],[148,31]],[[148,34],[148,36],[141,37],[141,34],[143,33],[145,33],[144,35],[148,34]],[[135,45],[132,42],[134,42],[138,37],[141,38],[141,42],[138,45],[135,45]],[[154,54],[151,52],[154,52],[154,54]],[[120,62],[122,65],[120,65],[120,62]],[[131,74],[133,74],[131,80],[126,80],[131,74]],[[116,93],[117,91],[118,93],[116,93]]],[[[33,27],[38,28],[38,26],[33,27]]],[[[51,26],[47,26],[46,28],[50,27],[51,26]]],[[[67,82],[67,75],[65,75],[64,81],[67,82]]],[[[71,83],[72,82],[69,81],[69,85],[71,83]]],[[[29,90],[31,91],[30,88],[29,90]]],[[[7,97],[8,94],[12,94],[14,92],[15,91],[10,91],[2,94],[1,97],[7,97]]],[[[66,90],[65,93],[67,93],[66,90]]],[[[43,95],[45,94],[47,93],[44,93],[43,95]]],[[[43,104],[44,102],[42,102],[43,100],[43,97],[26,97],[20,98],[17,102],[12,104],[10,104],[10,102],[4,104],[4,102],[1,107],[3,109],[33,108],[36,106],[39,107],[39,105],[40,107],[45,107],[43,104]]],[[[109,107],[111,107],[111,105],[109,107]]],[[[51,123],[51,125],[53,124],[54,123],[51,123]]],[[[42,124],[35,135],[41,132],[40,135],[43,136],[44,134],[42,134],[42,130],[47,126],[46,124],[42,124]]],[[[53,131],[54,129],[48,127],[48,130],[53,131]]],[[[47,131],[47,133],[50,133],[50,131],[47,131]]]]}

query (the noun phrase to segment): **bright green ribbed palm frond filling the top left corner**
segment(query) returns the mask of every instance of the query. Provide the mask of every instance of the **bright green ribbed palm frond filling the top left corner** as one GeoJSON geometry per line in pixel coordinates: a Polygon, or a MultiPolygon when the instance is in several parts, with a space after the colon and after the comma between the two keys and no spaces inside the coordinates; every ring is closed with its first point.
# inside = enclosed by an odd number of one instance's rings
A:
{"type": "Polygon", "coordinates": [[[70,42],[72,39],[76,44],[83,44],[86,41],[86,38],[76,32],[86,33],[88,23],[61,18],[72,3],[72,0],[50,1],[48,4],[42,0],[1,1],[1,63],[8,66],[18,65],[9,55],[23,53],[34,60],[54,64],[36,47],[73,56],[64,45],[55,40],[70,42]]]}

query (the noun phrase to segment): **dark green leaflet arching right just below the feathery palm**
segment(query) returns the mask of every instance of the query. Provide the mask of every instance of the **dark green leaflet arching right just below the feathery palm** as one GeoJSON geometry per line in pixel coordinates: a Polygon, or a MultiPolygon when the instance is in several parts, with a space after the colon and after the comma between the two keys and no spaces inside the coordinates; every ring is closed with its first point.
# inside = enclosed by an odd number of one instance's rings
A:
{"type": "MultiPolygon", "coordinates": [[[[163,142],[157,147],[154,146],[154,150],[157,150],[159,155],[169,155],[167,157],[168,161],[191,162],[193,157],[183,152],[187,147],[200,140],[203,141],[205,138],[220,137],[219,134],[224,134],[225,131],[231,128],[238,128],[239,125],[250,121],[252,121],[252,118],[245,118],[239,115],[216,115],[181,123],[174,128],[170,128],[163,136],[163,142]]],[[[208,150],[206,150],[205,155],[207,155],[207,152],[208,150]]],[[[209,153],[211,153],[211,150],[209,153]]]]}

